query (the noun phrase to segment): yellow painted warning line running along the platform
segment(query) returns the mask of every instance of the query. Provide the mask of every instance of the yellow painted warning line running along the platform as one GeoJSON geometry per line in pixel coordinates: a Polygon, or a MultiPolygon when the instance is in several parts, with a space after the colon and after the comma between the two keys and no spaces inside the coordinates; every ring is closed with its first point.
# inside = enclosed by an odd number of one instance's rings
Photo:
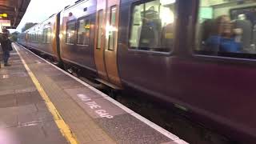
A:
{"type": "Polygon", "coordinates": [[[34,74],[32,73],[32,71],[30,70],[29,66],[26,65],[26,62],[24,61],[24,59],[22,58],[22,55],[19,54],[16,45],[14,45],[14,49],[17,51],[18,56],[21,58],[23,65],[26,68],[26,71],[28,72],[28,74],[30,75],[30,78],[32,79],[32,81],[34,82],[34,85],[36,86],[36,88],[38,89],[39,94],[42,96],[42,98],[44,99],[44,101],[46,102],[46,106],[48,108],[48,110],[50,110],[50,113],[53,115],[54,117],[54,122],[56,123],[56,125],[58,126],[58,129],[60,130],[60,132],[62,133],[62,135],[66,138],[66,140],[68,142],[70,142],[70,144],[78,144],[76,138],[74,137],[74,134],[72,134],[70,127],[66,124],[66,122],[64,122],[62,116],[58,113],[58,110],[56,109],[56,107],[54,106],[54,104],[52,102],[50,102],[50,98],[48,97],[48,95],[46,94],[46,91],[43,90],[42,86],[40,85],[40,83],[38,82],[38,79],[34,76],[34,74]]]}

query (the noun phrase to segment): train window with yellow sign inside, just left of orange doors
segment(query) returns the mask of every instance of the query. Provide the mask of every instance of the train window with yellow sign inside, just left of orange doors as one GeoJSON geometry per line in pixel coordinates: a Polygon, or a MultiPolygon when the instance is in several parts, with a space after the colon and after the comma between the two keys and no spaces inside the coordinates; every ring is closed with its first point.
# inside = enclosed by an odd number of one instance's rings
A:
{"type": "Polygon", "coordinates": [[[90,43],[90,18],[78,20],[78,44],[89,45],[90,43]]]}

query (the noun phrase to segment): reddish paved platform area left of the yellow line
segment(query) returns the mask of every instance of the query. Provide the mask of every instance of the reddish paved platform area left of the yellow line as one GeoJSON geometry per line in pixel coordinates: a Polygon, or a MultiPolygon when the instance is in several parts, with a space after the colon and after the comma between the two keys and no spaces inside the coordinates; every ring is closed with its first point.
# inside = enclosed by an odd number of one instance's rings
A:
{"type": "Polygon", "coordinates": [[[0,69],[0,143],[67,143],[17,53],[10,64],[0,69]]]}

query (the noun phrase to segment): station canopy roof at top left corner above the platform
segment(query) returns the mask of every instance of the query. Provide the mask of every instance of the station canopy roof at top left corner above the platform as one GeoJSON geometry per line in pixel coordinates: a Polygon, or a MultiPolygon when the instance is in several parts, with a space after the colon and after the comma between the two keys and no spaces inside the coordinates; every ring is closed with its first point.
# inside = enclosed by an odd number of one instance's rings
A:
{"type": "Polygon", "coordinates": [[[16,28],[29,4],[30,0],[0,0],[0,25],[6,28],[16,28]]]}

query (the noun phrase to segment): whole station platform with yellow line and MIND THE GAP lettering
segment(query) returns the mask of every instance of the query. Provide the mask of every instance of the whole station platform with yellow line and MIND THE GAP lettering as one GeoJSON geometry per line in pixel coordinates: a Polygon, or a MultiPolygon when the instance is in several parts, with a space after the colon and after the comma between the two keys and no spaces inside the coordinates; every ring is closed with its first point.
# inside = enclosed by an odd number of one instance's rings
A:
{"type": "Polygon", "coordinates": [[[0,144],[187,142],[13,44],[0,69],[0,144]]]}

